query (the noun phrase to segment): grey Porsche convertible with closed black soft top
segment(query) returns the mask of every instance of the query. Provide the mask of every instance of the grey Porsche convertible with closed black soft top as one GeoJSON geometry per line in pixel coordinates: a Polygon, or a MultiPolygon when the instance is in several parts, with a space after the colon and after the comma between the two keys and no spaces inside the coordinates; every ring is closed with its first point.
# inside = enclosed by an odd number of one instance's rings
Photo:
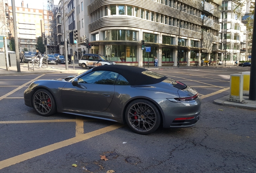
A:
{"type": "Polygon", "coordinates": [[[36,80],[24,92],[25,105],[39,115],[56,112],[127,123],[139,134],[191,127],[199,119],[201,98],[186,84],[144,68],[94,67],[78,76],[36,80]]]}

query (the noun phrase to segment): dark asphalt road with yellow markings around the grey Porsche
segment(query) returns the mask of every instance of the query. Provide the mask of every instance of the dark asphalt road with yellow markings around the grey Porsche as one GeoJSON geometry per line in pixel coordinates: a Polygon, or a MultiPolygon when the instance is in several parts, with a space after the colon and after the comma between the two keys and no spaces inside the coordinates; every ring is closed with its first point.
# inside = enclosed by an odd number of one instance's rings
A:
{"type": "Polygon", "coordinates": [[[229,74],[249,68],[155,71],[198,91],[202,112],[194,127],[138,135],[110,121],[41,117],[24,105],[29,83],[70,74],[0,76],[0,173],[255,173],[256,111],[213,104],[229,94],[229,74]]]}

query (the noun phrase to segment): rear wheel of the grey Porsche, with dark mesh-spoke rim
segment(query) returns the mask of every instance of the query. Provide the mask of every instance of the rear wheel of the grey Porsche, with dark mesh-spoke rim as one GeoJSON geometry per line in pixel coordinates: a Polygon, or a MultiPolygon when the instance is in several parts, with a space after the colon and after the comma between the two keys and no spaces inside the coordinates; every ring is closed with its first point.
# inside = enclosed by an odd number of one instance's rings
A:
{"type": "Polygon", "coordinates": [[[125,119],[132,131],[142,135],[153,133],[161,123],[157,107],[144,99],[132,101],[128,105],[125,119]]]}

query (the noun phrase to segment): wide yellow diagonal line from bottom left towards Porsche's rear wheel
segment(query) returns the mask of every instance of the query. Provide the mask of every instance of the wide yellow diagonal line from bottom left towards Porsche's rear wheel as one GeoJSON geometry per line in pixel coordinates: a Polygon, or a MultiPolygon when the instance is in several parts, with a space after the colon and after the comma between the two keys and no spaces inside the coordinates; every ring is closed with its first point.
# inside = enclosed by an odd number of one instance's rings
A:
{"type": "Polygon", "coordinates": [[[11,157],[9,159],[0,161],[0,169],[3,169],[3,168],[8,167],[10,165],[14,165],[16,163],[20,163],[22,161],[31,159],[33,157],[37,157],[39,155],[43,155],[45,153],[49,153],[50,151],[54,151],[56,149],[66,147],[68,145],[72,145],[74,143],[78,143],[78,142],[90,139],[92,137],[107,133],[109,131],[113,131],[113,130],[118,129],[122,126],[124,126],[124,125],[114,124],[114,125],[111,125],[111,126],[108,126],[108,127],[96,130],[96,131],[92,131],[92,132],[85,133],[85,134],[80,134],[80,135],[78,135],[78,137],[67,139],[65,141],[54,143],[52,145],[48,145],[48,146],[45,146],[45,147],[42,147],[42,148],[39,148],[39,149],[36,149],[36,150],[33,150],[33,151],[29,151],[29,152],[21,154],[21,155],[11,157]]]}

